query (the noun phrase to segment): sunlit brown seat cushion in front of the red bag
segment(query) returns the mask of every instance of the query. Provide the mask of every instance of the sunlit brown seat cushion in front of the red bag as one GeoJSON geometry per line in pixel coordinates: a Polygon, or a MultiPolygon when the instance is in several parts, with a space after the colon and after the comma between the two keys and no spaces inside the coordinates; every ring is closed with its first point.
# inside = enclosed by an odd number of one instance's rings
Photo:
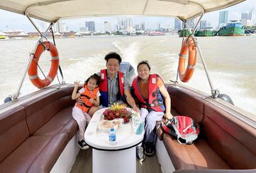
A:
{"type": "Polygon", "coordinates": [[[164,133],[163,141],[175,169],[230,169],[202,138],[192,145],[182,145],[164,133]]]}

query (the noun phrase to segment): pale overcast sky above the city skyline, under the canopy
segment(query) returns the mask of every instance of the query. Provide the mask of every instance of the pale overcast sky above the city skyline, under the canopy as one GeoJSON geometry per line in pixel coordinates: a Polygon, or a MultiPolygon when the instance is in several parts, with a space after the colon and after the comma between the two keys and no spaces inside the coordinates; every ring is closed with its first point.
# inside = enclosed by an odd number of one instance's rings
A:
{"type": "MultiPolygon", "coordinates": [[[[228,20],[240,20],[241,13],[245,11],[250,11],[252,7],[256,7],[255,0],[247,0],[230,8],[223,9],[221,11],[228,10],[228,20]]],[[[211,23],[213,28],[218,25],[218,13],[219,11],[214,11],[211,13],[206,13],[202,20],[207,20],[211,23]]],[[[9,11],[0,10],[0,30],[24,30],[26,32],[35,31],[32,24],[28,21],[26,16],[22,16],[16,13],[11,13],[9,11]]],[[[158,24],[161,24],[162,28],[174,28],[174,18],[158,18],[158,17],[144,17],[144,16],[125,16],[126,18],[133,18],[133,25],[145,23],[145,28],[158,28],[158,24]]],[[[123,17],[123,18],[125,18],[123,17]]],[[[121,17],[122,18],[122,17],[121,17]]],[[[111,23],[111,28],[116,25],[117,17],[107,17],[107,18],[79,18],[64,20],[69,30],[79,31],[79,28],[84,27],[85,21],[95,21],[96,30],[104,29],[104,21],[111,23]]],[[[253,24],[256,20],[253,21],[253,24]]]]}

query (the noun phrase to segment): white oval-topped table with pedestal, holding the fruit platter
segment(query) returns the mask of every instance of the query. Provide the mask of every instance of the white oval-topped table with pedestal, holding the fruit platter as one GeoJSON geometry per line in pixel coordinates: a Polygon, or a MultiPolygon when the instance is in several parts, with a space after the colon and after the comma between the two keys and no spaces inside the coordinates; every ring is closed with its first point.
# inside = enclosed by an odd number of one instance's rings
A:
{"type": "MultiPolygon", "coordinates": [[[[116,131],[116,143],[108,141],[108,132],[98,129],[103,120],[104,109],[99,109],[91,118],[84,133],[84,141],[92,148],[93,173],[136,172],[136,145],[143,141],[142,134],[135,134],[133,123],[121,124],[116,131]]],[[[129,109],[129,108],[128,108],[129,109]]]]}

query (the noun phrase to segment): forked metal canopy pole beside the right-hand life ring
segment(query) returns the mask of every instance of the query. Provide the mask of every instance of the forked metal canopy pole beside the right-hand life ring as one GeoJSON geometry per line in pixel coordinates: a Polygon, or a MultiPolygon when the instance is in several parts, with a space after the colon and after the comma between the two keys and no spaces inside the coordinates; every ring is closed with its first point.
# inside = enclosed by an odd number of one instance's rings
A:
{"type": "Polygon", "coordinates": [[[200,23],[200,21],[201,21],[201,18],[202,18],[203,16],[204,16],[204,12],[202,12],[202,14],[201,14],[199,20],[198,20],[197,23],[196,23],[196,27],[194,28],[193,31],[191,31],[191,29],[189,28],[189,25],[187,25],[187,22],[185,22],[185,25],[187,26],[187,29],[188,29],[189,32],[191,33],[191,34],[189,35],[189,37],[192,37],[192,38],[194,39],[195,44],[196,44],[196,49],[197,49],[197,51],[199,52],[201,62],[202,62],[202,64],[203,64],[203,66],[204,66],[204,71],[205,71],[206,77],[207,77],[207,79],[208,79],[208,83],[209,83],[209,85],[210,85],[210,87],[211,87],[211,97],[214,98],[214,99],[216,99],[216,98],[218,97],[218,95],[220,94],[220,92],[219,92],[218,89],[214,89],[213,82],[211,81],[211,76],[210,76],[210,74],[208,73],[208,68],[206,67],[206,63],[205,63],[205,61],[204,61],[204,56],[203,56],[203,54],[202,54],[202,52],[201,52],[201,48],[200,48],[200,46],[199,46],[199,42],[198,42],[198,41],[196,40],[196,38],[194,37],[194,32],[196,31],[197,25],[199,25],[199,23],[200,23]]]}

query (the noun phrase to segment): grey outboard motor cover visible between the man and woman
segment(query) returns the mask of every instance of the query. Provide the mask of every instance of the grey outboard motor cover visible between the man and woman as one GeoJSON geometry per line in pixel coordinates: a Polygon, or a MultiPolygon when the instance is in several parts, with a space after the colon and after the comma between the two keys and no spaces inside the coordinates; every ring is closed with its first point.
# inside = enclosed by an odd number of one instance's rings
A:
{"type": "Polygon", "coordinates": [[[123,76],[128,80],[129,85],[133,83],[133,79],[135,78],[135,70],[129,62],[121,62],[120,71],[123,72],[123,76]]]}

